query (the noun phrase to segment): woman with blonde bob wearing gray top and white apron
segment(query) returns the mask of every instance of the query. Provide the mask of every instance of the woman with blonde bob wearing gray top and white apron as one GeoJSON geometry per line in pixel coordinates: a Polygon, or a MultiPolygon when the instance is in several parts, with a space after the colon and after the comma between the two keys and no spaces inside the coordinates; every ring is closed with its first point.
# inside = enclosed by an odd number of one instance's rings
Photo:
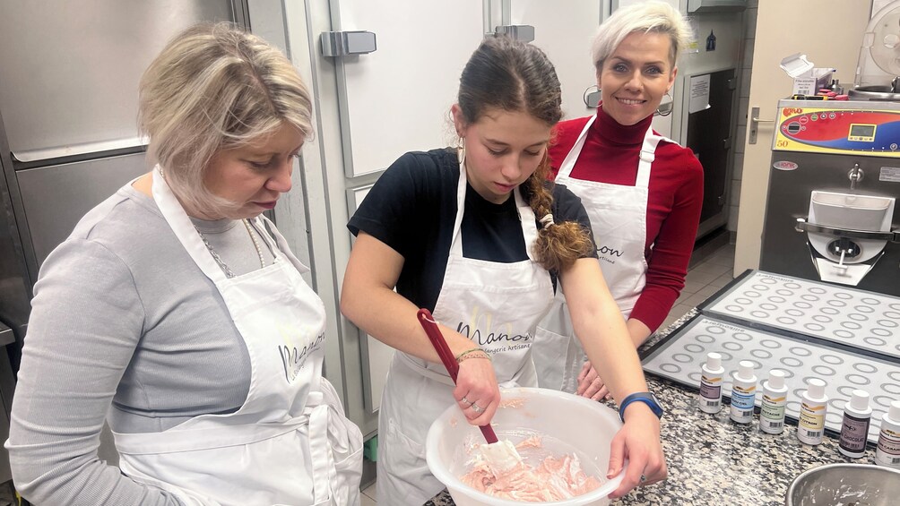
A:
{"type": "Polygon", "coordinates": [[[324,377],[325,309],[261,213],[291,189],[311,97],[226,24],[141,80],[157,165],[41,267],[6,442],[16,488],[65,506],[359,503],[362,434],[324,377]],[[119,468],[97,456],[109,423],[119,468]]]}

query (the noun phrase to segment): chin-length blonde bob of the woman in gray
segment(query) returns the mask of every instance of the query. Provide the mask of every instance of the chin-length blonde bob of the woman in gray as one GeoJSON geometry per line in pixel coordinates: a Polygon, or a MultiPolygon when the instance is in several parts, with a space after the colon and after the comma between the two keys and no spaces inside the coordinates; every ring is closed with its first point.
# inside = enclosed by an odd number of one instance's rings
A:
{"type": "Polygon", "coordinates": [[[148,155],[185,207],[230,217],[238,204],[203,184],[220,150],[246,146],[290,124],[310,138],[312,103],[284,54],[227,22],[175,36],[140,80],[139,123],[148,155]]]}

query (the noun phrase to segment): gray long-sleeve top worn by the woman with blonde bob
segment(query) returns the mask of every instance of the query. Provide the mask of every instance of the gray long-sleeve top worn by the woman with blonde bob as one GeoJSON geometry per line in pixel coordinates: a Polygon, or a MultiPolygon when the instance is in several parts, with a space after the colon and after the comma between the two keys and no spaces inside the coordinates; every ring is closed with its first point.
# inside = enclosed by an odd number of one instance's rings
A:
{"type": "MultiPolygon", "coordinates": [[[[235,273],[259,268],[239,221],[194,225],[235,273]]],[[[154,200],[126,185],[85,215],[41,266],[31,306],[6,443],[17,490],[41,506],[180,504],[98,459],[104,419],[148,432],[234,412],[250,369],[218,290],[154,200]]]]}

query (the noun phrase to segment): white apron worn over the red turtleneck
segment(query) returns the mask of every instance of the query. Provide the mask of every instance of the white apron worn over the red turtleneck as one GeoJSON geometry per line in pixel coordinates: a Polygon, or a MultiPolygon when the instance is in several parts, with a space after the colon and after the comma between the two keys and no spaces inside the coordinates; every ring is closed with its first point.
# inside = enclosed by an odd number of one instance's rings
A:
{"type": "MultiPolygon", "coordinates": [[[[596,115],[591,117],[581,130],[560,165],[556,182],[581,198],[588,211],[603,278],[627,320],[646,284],[648,182],[656,146],[663,138],[654,135],[652,128],[644,134],[635,186],[574,179],[572,169],[596,119],[596,115]]],[[[553,308],[538,324],[534,353],[540,386],[572,393],[578,390],[578,375],[587,356],[572,329],[563,290],[557,291],[553,308]]]]}

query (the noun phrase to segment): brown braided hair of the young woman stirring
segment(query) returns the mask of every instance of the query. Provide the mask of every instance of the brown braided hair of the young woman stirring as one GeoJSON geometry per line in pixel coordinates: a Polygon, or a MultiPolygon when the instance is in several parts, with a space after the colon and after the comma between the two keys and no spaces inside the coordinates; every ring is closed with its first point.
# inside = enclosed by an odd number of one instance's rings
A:
{"type": "MultiPolygon", "coordinates": [[[[490,36],[475,49],[460,76],[457,102],[468,123],[491,109],[527,112],[551,127],[563,117],[559,78],[544,51],[506,36],[490,36]]],[[[553,209],[549,173],[550,160],[545,154],[521,186],[538,219],[553,209]]],[[[561,272],[591,249],[590,234],[581,224],[556,222],[538,230],[532,253],[548,271],[561,272]]]]}

